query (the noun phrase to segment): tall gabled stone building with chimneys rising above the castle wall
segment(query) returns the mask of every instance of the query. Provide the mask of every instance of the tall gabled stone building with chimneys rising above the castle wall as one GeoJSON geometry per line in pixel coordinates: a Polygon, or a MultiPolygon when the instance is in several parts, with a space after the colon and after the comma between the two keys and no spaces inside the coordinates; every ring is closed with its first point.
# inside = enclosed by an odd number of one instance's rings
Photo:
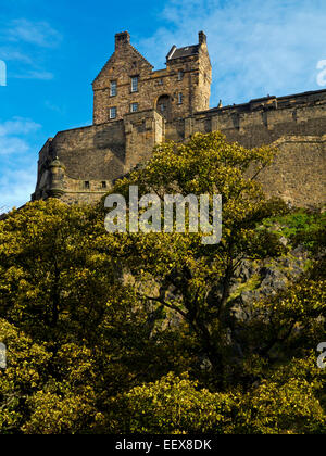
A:
{"type": "Polygon", "coordinates": [[[130,45],[127,31],[115,35],[115,51],[92,84],[93,124],[123,119],[128,113],[155,109],[166,121],[210,106],[212,67],[206,37],[199,45],[166,55],[166,69],[153,66],[130,45]]]}

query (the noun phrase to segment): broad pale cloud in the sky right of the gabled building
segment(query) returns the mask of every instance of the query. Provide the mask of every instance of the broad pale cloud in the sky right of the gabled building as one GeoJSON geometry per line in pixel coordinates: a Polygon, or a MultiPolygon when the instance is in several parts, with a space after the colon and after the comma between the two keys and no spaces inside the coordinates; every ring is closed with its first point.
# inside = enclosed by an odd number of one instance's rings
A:
{"type": "MultiPolygon", "coordinates": [[[[212,105],[269,94],[318,89],[316,62],[326,59],[324,0],[168,0],[166,26],[141,51],[155,65],[158,49],[197,41],[208,35],[213,64],[212,105]]],[[[161,65],[160,65],[161,66],[161,65]]]]}

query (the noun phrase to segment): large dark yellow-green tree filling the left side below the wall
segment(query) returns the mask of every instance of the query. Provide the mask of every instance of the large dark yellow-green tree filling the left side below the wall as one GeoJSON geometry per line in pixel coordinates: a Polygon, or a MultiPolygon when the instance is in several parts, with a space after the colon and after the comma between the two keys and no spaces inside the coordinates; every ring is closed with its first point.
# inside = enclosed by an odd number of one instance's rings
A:
{"type": "Polygon", "coordinates": [[[57,200],[0,223],[0,432],[89,432],[112,394],[187,366],[181,334],[155,328],[162,312],[99,253],[97,224],[92,207],[57,200]]]}

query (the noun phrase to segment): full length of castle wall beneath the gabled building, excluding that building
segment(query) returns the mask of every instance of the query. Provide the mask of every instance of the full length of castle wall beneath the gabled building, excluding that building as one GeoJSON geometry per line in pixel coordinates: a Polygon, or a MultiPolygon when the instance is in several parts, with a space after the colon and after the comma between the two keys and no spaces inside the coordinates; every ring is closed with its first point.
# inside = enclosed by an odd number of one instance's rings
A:
{"type": "Polygon", "coordinates": [[[126,114],[122,121],[61,131],[40,152],[35,198],[47,198],[51,182],[48,167],[57,155],[65,167],[64,194],[60,198],[68,203],[92,203],[116,178],[149,160],[155,143],[170,139],[181,142],[196,131],[214,130],[246,148],[278,147],[275,163],[260,175],[269,194],[302,206],[325,201],[326,91],[253,100],[174,122],[147,110],[126,114]]]}

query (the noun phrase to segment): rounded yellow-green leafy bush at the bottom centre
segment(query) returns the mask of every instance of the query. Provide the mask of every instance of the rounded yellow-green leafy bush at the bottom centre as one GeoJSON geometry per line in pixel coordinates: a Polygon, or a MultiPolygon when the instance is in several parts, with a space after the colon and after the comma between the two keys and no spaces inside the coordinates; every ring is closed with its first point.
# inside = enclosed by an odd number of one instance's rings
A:
{"type": "Polygon", "coordinates": [[[198,389],[187,375],[168,373],[155,383],[136,387],[112,401],[112,432],[222,433],[233,428],[236,400],[198,389]]]}

